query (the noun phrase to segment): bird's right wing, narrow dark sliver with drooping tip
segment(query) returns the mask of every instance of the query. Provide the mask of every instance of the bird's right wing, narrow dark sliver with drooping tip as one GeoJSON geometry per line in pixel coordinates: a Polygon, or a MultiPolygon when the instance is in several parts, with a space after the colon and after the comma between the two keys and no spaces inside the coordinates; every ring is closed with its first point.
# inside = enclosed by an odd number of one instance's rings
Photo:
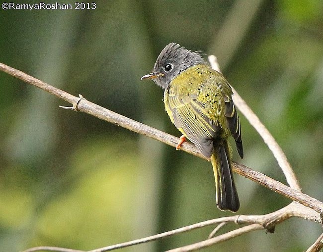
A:
{"type": "Polygon", "coordinates": [[[241,158],[243,158],[243,147],[242,147],[242,134],[240,127],[240,120],[235,104],[231,97],[225,96],[225,116],[227,119],[227,125],[231,131],[232,136],[236,140],[236,146],[238,153],[241,158]]]}

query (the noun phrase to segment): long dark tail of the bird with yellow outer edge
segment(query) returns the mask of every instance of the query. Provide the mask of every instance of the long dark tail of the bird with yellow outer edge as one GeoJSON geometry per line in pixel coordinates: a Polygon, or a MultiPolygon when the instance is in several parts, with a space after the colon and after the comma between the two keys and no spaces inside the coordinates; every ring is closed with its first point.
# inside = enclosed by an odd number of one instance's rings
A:
{"type": "Polygon", "coordinates": [[[225,139],[214,140],[213,145],[211,162],[215,177],[217,206],[223,211],[236,212],[240,202],[233,180],[228,142],[225,139]]]}

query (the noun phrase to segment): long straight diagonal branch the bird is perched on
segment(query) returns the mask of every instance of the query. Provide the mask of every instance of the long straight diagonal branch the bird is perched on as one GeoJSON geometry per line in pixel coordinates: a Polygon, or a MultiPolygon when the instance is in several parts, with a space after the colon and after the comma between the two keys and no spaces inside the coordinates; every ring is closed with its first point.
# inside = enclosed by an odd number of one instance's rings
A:
{"type": "MultiPolygon", "coordinates": [[[[22,71],[19,71],[17,69],[14,69],[12,67],[9,67],[5,64],[0,63],[0,70],[3,72],[6,72],[16,78],[19,78],[31,85],[34,85],[42,90],[47,91],[48,93],[57,96],[60,99],[63,99],[64,101],[68,101],[71,104],[74,104],[74,110],[78,110],[81,112],[85,112],[87,114],[93,115],[97,118],[100,118],[102,120],[105,120],[107,122],[113,123],[117,126],[121,126],[123,128],[126,128],[128,130],[134,131],[136,133],[151,137],[155,140],[161,141],[162,143],[165,143],[169,146],[176,147],[179,139],[177,137],[174,137],[172,135],[169,135],[167,133],[164,133],[160,130],[157,130],[155,128],[152,128],[150,126],[147,126],[143,123],[137,122],[135,120],[132,120],[128,117],[125,117],[123,115],[120,115],[118,113],[115,113],[109,109],[106,109],[104,107],[101,107],[93,102],[87,101],[84,98],[75,97],[63,90],[60,90],[58,88],[55,88],[45,82],[42,82],[41,80],[38,80],[28,74],[23,73],[22,71]]],[[[188,152],[190,154],[193,154],[195,156],[201,157],[203,159],[208,160],[202,153],[200,153],[197,148],[188,142],[184,142],[181,146],[181,150],[188,152]]],[[[290,187],[269,178],[268,176],[254,171],[242,164],[238,164],[236,162],[233,162],[233,171],[249,178],[267,188],[270,190],[273,190],[293,201],[297,201],[305,206],[308,206],[312,209],[314,209],[317,212],[323,211],[323,202],[318,201],[317,199],[314,199],[306,194],[302,194],[294,189],[291,189],[290,187]]]]}

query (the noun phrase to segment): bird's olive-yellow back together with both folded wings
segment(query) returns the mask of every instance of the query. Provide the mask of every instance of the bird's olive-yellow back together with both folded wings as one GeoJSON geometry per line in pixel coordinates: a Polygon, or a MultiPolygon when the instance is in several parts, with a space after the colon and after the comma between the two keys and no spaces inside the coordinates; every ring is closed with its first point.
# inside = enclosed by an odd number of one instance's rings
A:
{"type": "Polygon", "coordinates": [[[211,157],[214,139],[227,138],[231,134],[243,156],[240,121],[232,101],[232,89],[222,74],[207,66],[191,67],[171,81],[165,90],[164,102],[175,126],[205,156],[211,157]]]}

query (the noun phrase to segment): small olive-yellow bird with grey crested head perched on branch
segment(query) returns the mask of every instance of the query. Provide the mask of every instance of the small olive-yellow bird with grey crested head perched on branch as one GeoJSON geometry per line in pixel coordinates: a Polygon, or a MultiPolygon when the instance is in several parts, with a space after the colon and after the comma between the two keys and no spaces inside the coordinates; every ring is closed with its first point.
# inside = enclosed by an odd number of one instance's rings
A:
{"type": "Polygon", "coordinates": [[[161,50],[152,73],[141,78],[145,79],[152,79],[164,89],[165,110],[183,134],[176,150],[189,139],[212,163],[217,207],[238,211],[240,201],[228,138],[233,136],[243,158],[242,132],[228,81],[204,61],[200,51],[187,50],[176,43],[161,50]]]}

